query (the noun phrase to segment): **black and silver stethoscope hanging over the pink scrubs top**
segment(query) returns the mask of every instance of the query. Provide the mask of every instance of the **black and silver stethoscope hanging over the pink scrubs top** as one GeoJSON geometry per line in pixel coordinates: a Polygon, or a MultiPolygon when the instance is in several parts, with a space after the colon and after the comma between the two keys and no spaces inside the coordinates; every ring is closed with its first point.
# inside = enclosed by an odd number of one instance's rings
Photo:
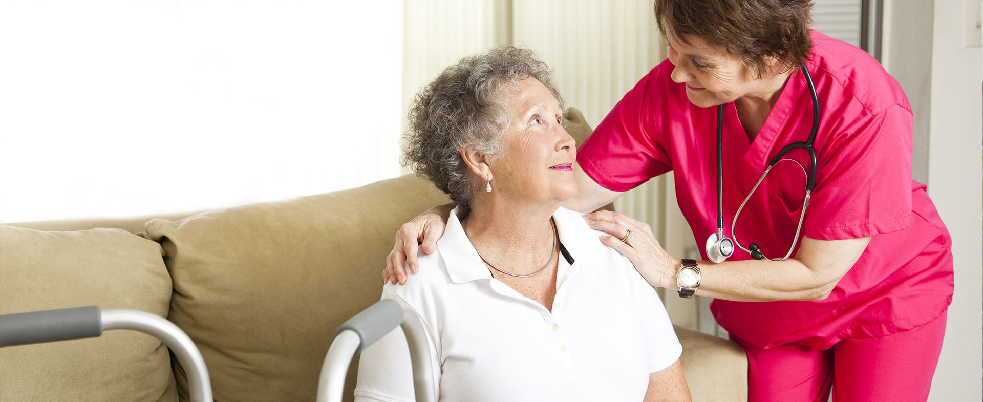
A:
{"type": "Polygon", "coordinates": [[[768,258],[771,260],[782,261],[788,259],[792,252],[795,250],[795,245],[798,244],[799,234],[802,231],[802,221],[805,219],[805,208],[809,206],[809,199],[812,198],[812,190],[816,188],[816,150],[813,149],[812,143],[816,140],[816,132],[819,130],[819,97],[816,95],[816,86],[812,84],[812,76],[809,74],[809,69],[802,66],[802,75],[805,76],[806,84],[809,85],[809,94],[812,95],[812,132],[809,133],[809,139],[806,142],[795,142],[792,144],[787,144],[785,147],[781,148],[778,154],[768,162],[768,169],[761,174],[761,178],[758,179],[758,183],[755,183],[754,188],[751,189],[751,193],[744,198],[744,201],[740,203],[737,208],[737,213],[734,214],[734,219],[730,223],[730,235],[733,236],[733,241],[728,239],[723,235],[723,104],[717,106],[717,232],[710,235],[707,239],[707,258],[714,262],[723,262],[726,258],[733,255],[734,245],[744,252],[751,255],[751,258],[762,259],[767,258],[762,253],[761,248],[757,244],[751,243],[748,245],[749,249],[741,246],[740,242],[737,241],[737,235],[734,234],[734,226],[737,224],[737,217],[740,216],[741,210],[744,209],[744,205],[748,200],[751,200],[751,196],[754,195],[754,191],[758,190],[758,186],[765,181],[765,177],[768,173],[772,171],[772,168],[780,162],[791,161],[802,168],[802,173],[805,174],[805,167],[802,166],[795,159],[782,159],[788,151],[795,148],[805,149],[809,153],[809,173],[807,174],[807,181],[805,186],[805,201],[802,201],[802,212],[799,214],[798,226],[795,228],[795,238],[792,239],[792,247],[788,249],[788,253],[785,254],[783,258],[768,258]]]}

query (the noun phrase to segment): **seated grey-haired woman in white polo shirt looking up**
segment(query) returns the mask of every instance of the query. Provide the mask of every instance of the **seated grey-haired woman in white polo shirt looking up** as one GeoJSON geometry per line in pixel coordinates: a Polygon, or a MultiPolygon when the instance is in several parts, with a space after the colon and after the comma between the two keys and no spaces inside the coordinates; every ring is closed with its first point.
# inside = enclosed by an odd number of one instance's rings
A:
{"type": "MultiPolygon", "coordinates": [[[[405,161],[456,207],[421,274],[382,297],[429,335],[440,400],[688,401],[655,290],[581,214],[574,140],[530,50],[448,67],[416,98],[405,161]]],[[[411,401],[399,331],[367,349],[356,400],[411,401]]]]}

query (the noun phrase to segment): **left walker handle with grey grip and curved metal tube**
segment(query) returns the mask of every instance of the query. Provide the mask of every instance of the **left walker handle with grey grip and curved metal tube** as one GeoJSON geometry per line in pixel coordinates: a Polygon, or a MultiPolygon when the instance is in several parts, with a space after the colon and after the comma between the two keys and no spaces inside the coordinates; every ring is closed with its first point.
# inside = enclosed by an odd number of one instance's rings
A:
{"type": "Polygon", "coordinates": [[[208,371],[195,342],[173,322],[139,310],[90,306],[0,316],[0,347],[92,338],[110,329],[131,329],[162,340],[188,374],[192,402],[211,402],[208,371]]]}

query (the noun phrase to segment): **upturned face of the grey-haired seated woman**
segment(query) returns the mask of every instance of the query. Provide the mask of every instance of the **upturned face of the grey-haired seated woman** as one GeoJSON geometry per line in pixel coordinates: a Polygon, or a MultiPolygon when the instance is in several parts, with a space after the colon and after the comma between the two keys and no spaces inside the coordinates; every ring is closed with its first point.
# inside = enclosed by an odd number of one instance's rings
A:
{"type": "Polygon", "coordinates": [[[512,124],[492,160],[492,188],[527,201],[566,201],[577,196],[573,163],[576,142],[560,121],[563,109],[539,80],[519,80],[506,89],[512,124]]]}

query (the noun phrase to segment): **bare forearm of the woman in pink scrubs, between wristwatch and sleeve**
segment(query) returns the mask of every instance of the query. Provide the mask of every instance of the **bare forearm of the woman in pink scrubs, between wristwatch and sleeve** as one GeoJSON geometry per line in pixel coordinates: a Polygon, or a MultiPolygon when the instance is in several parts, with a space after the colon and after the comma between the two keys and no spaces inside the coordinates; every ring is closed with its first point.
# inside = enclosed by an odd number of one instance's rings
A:
{"type": "Polygon", "coordinates": [[[735,302],[823,300],[839,280],[838,275],[811,269],[795,258],[700,261],[698,265],[702,279],[696,295],[735,302]]]}

